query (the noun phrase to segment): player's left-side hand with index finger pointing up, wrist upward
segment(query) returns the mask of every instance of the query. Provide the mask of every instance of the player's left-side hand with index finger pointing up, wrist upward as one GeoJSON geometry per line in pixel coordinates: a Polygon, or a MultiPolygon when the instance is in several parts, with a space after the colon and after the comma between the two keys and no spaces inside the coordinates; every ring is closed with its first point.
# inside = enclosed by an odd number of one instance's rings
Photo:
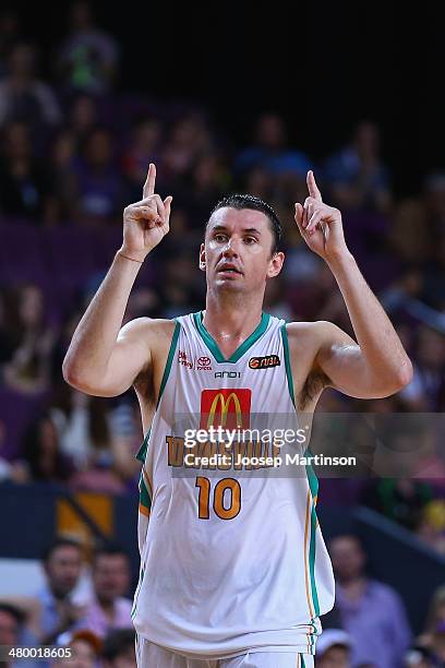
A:
{"type": "Polygon", "coordinates": [[[155,194],[156,167],[151,163],[142,191],[142,200],[123,212],[123,254],[143,262],[169,230],[172,198],[164,201],[155,194]]]}

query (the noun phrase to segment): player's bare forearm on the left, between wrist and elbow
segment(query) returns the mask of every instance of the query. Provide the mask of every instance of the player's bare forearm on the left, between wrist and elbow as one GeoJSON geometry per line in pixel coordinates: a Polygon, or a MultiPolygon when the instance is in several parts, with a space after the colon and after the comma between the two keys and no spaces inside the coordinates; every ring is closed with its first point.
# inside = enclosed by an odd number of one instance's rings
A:
{"type": "Polygon", "coordinates": [[[105,373],[122,326],[130,293],[142,264],[120,251],[73,334],[63,360],[63,375],[105,373]]]}

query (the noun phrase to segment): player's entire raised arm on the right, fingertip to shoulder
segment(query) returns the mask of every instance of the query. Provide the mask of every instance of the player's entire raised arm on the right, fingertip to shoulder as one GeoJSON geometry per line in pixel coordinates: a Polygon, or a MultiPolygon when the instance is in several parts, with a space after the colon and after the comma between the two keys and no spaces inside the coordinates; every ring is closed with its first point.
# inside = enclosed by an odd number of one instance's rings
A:
{"type": "Polygon", "coordinates": [[[357,398],[395,394],[412,378],[412,365],[383,307],[366,284],[346,246],[341,214],[327,206],[308,175],[310,195],[296,205],[296,220],[308,246],[333,272],[345,299],[357,341],[337,325],[318,321],[315,367],[329,385],[357,398]]]}

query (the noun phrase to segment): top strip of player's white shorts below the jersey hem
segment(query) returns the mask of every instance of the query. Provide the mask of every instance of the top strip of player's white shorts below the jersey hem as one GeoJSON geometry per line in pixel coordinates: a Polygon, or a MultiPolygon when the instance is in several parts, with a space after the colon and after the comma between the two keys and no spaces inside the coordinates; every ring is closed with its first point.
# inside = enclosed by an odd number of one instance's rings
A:
{"type": "Polygon", "coordinates": [[[311,654],[256,652],[226,659],[192,659],[151,643],[136,634],[137,668],[314,668],[311,654]]]}

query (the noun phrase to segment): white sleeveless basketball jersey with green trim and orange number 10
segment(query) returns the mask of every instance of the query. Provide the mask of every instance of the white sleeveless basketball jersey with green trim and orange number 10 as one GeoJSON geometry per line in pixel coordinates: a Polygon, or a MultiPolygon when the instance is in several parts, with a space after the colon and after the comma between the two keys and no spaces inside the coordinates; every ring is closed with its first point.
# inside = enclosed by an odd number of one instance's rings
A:
{"type": "Polygon", "coordinates": [[[315,654],[318,616],[332,609],[335,585],[312,468],[274,477],[270,464],[237,465],[240,453],[277,453],[261,439],[185,445],[188,429],[264,427],[277,416],[297,422],[284,320],[263,313],[225,359],[202,312],[177,319],[139,454],[141,572],[132,617],[148,641],[195,658],[315,654]],[[200,464],[200,454],[215,452],[228,457],[200,464]]]}

